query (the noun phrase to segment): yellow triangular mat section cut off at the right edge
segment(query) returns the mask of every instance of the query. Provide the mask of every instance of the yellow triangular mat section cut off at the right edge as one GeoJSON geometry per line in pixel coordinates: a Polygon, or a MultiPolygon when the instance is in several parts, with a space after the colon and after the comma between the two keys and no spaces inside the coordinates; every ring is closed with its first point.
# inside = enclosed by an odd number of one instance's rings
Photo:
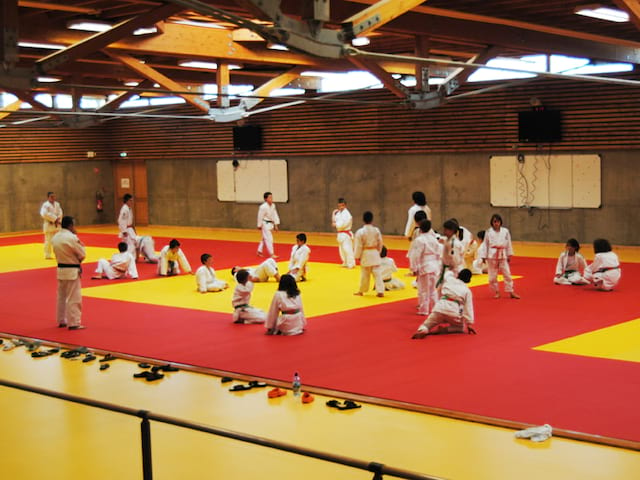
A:
{"type": "Polygon", "coordinates": [[[640,362],[640,319],[565,338],[534,350],[640,362]]]}

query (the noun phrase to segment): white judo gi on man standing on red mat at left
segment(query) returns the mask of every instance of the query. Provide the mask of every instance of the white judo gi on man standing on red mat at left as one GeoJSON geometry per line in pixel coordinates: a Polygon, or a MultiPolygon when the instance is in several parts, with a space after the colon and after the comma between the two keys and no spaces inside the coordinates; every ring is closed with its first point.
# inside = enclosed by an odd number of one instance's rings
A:
{"type": "Polygon", "coordinates": [[[56,319],[59,326],[77,327],[82,320],[82,268],[84,245],[71,230],[61,229],[51,239],[58,262],[56,319]]]}

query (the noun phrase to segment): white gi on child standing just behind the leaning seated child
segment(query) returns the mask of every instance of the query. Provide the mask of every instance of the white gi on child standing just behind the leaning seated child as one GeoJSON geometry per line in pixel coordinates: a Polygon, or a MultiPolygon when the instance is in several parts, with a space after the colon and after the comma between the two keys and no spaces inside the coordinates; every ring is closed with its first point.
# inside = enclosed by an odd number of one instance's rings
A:
{"type": "Polygon", "coordinates": [[[441,269],[442,245],[433,230],[421,233],[413,242],[409,265],[416,275],[418,315],[429,315],[437,300],[436,282],[441,269]]]}

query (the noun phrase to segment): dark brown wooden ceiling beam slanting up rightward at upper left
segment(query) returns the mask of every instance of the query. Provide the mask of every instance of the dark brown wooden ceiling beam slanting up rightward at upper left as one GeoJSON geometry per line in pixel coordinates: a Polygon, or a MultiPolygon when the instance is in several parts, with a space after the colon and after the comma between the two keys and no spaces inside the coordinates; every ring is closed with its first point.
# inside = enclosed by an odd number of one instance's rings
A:
{"type": "Polygon", "coordinates": [[[122,37],[131,35],[135,30],[142,27],[148,27],[154,23],[164,20],[167,17],[181,11],[183,8],[177,5],[163,5],[155,10],[151,10],[144,15],[130,18],[118,25],[110,28],[105,32],[96,33],[89,38],[81,40],[64,50],[59,50],[36,62],[36,68],[41,73],[47,73],[60,64],[70,62],[77,58],[100,50],[113,42],[120,40],[122,37]]]}

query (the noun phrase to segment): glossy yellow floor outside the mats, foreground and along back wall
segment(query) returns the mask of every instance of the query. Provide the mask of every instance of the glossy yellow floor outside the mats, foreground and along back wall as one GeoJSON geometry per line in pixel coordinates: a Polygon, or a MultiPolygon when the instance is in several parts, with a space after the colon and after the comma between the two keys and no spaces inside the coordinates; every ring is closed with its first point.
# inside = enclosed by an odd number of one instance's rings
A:
{"type": "MultiPolygon", "coordinates": [[[[82,231],[106,233],[114,229],[97,227],[82,231]]],[[[154,227],[141,233],[258,241],[258,233],[253,231],[154,227]]],[[[334,237],[314,235],[313,241],[316,245],[333,245],[334,237]]],[[[399,238],[385,238],[385,243],[390,248],[406,248],[406,240],[399,238]]],[[[557,257],[562,250],[561,245],[515,247],[517,254],[541,257],[557,257]]],[[[591,249],[584,250],[589,257],[587,250],[591,249]]],[[[638,248],[616,248],[616,251],[623,261],[640,261],[638,248]]],[[[100,371],[97,360],[83,363],[58,355],[33,359],[25,347],[0,351],[0,378],[4,380],[435,477],[631,479],[640,472],[637,451],[555,437],[537,444],[515,439],[514,431],[505,428],[380,405],[363,403],[362,408],[349,411],[325,405],[327,400],[339,397],[318,395],[313,403],[302,404],[288,391],[284,397],[268,399],[271,387],[230,392],[230,386],[240,382],[223,384],[215,375],[186,370],[169,373],[159,382],[146,382],[132,377],[140,371],[136,362],[118,359],[110,365],[100,371]]],[[[3,428],[0,478],[142,478],[138,419],[4,387],[0,387],[0,412],[3,428]]],[[[160,424],[152,425],[152,445],[156,479],[373,476],[160,424]]]]}

